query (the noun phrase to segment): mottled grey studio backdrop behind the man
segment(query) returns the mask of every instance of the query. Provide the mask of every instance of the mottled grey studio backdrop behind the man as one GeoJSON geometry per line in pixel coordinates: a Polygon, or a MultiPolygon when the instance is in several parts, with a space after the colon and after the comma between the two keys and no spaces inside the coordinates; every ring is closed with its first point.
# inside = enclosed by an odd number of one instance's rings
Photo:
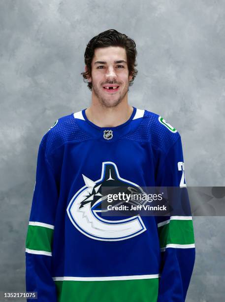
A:
{"type": "MultiPolygon", "coordinates": [[[[225,186],[225,1],[0,0],[0,290],[25,290],[38,145],[90,104],[84,51],[114,28],[137,44],[131,105],[181,134],[189,186],[225,186]]],[[[188,302],[225,295],[224,217],[195,217],[188,302]]]]}

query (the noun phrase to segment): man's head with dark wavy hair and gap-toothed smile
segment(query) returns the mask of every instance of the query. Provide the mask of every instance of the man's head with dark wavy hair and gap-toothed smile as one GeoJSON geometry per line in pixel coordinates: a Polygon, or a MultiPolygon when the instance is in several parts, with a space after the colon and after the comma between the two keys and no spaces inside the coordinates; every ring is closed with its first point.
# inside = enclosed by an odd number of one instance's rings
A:
{"type": "Polygon", "coordinates": [[[127,96],[137,75],[136,55],[135,42],[116,30],[100,33],[88,43],[82,75],[103,106],[115,107],[127,96]],[[109,88],[110,84],[118,88],[109,88]]]}

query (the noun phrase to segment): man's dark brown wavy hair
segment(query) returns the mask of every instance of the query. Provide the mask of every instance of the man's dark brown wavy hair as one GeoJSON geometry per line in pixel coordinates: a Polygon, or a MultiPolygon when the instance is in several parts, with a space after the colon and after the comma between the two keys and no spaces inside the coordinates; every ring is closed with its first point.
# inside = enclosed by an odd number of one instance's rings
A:
{"type": "MultiPolygon", "coordinates": [[[[133,76],[129,81],[129,86],[133,84],[133,80],[137,75],[136,70],[136,44],[133,39],[129,38],[125,34],[121,34],[114,29],[107,30],[103,33],[98,34],[96,37],[92,38],[87,44],[85,53],[84,53],[84,62],[87,65],[87,72],[81,73],[83,75],[83,80],[87,83],[88,76],[92,74],[92,59],[94,57],[95,49],[100,47],[108,46],[120,46],[125,48],[127,53],[128,61],[128,70],[129,76],[133,76]]],[[[88,83],[88,88],[92,90],[92,83],[88,83]]]]}

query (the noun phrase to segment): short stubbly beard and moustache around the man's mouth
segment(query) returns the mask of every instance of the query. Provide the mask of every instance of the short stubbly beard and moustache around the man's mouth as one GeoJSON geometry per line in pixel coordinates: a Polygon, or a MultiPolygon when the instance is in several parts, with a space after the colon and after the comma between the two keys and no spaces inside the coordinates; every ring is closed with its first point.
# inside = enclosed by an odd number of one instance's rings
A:
{"type": "MultiPolygon", "coordinates": [[[[108,82],[107,84],[115,84],[114,82],[108,82]]],[[[121,91],[121,94],[118,95],[117,99],[111,100],[110,96],[107,98],[107,96],[103,96],[103,92],[100,92],[100,89],[95,85],[95,83],[92,83],[92,89],[96,94],[96,97],[98,98],[99,102],[101,103],[102,107],[112,108],[118,106],[126,94],[129,91],[129,83],[127,83],[124,87],[124,89],[121,91]]]]}

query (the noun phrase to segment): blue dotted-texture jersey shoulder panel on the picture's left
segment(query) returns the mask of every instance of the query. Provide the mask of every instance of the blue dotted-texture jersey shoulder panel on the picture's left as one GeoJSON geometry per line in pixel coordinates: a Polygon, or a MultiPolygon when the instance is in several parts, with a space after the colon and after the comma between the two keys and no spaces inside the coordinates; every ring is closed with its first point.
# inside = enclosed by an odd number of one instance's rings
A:
{"type": "Polygon", "coordinates": [[[44,147],[46,155],[65,143],[85,141],[90,137],[77,124],[76,113],[71,113],[57,119],[43,136],[40,145],[44,147]]]}

